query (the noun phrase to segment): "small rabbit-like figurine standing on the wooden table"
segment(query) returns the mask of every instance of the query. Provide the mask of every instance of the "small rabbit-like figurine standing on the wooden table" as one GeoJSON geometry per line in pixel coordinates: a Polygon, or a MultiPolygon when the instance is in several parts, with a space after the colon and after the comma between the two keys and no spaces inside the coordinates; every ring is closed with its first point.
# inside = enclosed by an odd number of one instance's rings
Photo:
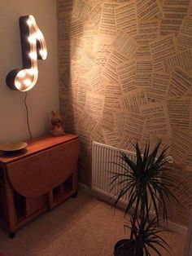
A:
{"type": "Polygon", "coordinates": [[[63,130],[63,118],[58,111],[56,113],[53,110],[51,111],[51,125],[51,135],[59,136],[65,134],[63,130]]]}

